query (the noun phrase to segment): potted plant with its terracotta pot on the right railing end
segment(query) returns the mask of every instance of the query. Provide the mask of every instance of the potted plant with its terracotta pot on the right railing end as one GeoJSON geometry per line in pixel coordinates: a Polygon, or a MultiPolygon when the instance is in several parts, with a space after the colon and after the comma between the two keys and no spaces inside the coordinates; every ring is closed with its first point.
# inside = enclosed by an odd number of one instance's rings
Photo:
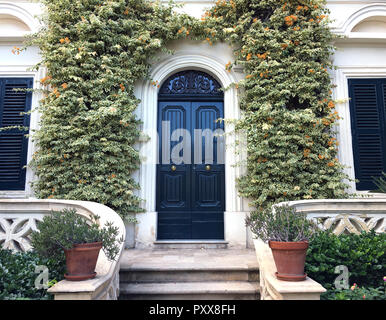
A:
{"type": "Polygon", "coordinates": [[[288,205],[253,212],[246,222],[258,238],[268,242],[279,280],[306,279],[304,266],[308,241],[317,230],[315,223],[288,205]]]}

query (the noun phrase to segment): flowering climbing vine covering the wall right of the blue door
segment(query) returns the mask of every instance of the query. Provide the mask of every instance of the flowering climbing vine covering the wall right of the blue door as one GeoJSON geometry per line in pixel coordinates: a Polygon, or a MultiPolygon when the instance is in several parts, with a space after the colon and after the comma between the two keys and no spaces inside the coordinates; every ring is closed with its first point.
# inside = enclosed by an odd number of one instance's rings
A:
{"type": "Polygon", "coordinates": [[[334,35],[321,0],[217,1],[202,18],[206,38],[235,48],[246,78],[238,123],[247,132],[241,195],[255,208],[297,199],[344,198],[328,70],[334,35]]]}

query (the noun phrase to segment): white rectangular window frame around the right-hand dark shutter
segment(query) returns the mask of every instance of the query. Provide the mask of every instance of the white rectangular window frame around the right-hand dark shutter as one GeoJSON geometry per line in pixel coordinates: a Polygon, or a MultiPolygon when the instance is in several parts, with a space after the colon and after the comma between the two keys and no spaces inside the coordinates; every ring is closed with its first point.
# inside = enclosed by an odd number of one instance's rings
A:
{"type": "MultiPolygon", "coordinates": [[[[352,179],[355,179],[354,171],[354,154],[351,131],[351,115],[349,102],[348,79],[368,79],[368,78],[386,78],[386,65],[379,67],[367,66],[338,66],[335,72],[334,82],[337,87],[335,89],[335,99],[338,101],[336,110],[341,119],[337,128],[337,138],[339,146],[339,160],[348,168],[345,173],[352,179]]],[[[365,193],[356,190],[355,182],[347,182],[350,185],[349,192],[365,193]]]]}

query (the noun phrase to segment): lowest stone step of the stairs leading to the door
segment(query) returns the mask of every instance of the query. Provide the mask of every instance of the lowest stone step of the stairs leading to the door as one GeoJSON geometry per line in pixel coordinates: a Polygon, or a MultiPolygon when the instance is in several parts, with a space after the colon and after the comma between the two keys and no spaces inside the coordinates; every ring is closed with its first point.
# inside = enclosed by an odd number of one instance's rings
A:
{"type": "Polygon", "coordinates": [[[121,283],[120,300],[258,300],[259,285],[247,281],[121,283]]]}

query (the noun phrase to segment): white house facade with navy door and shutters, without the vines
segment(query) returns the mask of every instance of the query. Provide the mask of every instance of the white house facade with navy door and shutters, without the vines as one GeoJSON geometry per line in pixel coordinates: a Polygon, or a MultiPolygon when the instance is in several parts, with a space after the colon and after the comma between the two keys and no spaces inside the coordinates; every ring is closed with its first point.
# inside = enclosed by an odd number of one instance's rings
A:
{"type": "MultiPolygon", "coordinates": [[[[176,2],[184,3],[179,10],[198,18],[215,3],[176,2]]],[[[386,1],[330,0],[327,6],[333,32],[344,36],[335,43],[337,68],[331,71],[336,85],[333,98],[341,117],[339,160],[347,166],[348,176],[359,180],[349,182],[349,191],[366,193],[374,188],[372,177],[386,172],[386,1]]],[[[39,94],[13,89],[39,89],[40,79],[45,77],[44,68],[31,70],[40,60],[38,49],[19,51],[25,35],[39,29],[36,16],[41,12],[39,3],[0,1],[1,127],[23,125],[35,130],[39,126],[39,114],[34,111],[39,94]],[[28,110],[32,110],[29,116],[20,115],[28,110]]],[[[245,77],[243,70],[225,70],[224,65],[234,60],[227,44],[180,40],[170,43],[169,49],[175,54],[160,54],[151,69],[151,78],[157,79],[159,87],[148,81],[136,87],[141,100],[137,116],[150,139],[139,146],[144,161],[135,178],[146,212],[136,216],[135,245],[206,242],[250,246],[252,237],[245,218],[251,208],[236,189],[236,178],[243,170],[236,164],[242,154],[235,152],[236,137],[227,135],[232,125],[214,121],[241,117],[237,90],[229,86],[245,77]],[[220,87],[229,89],[220,93],[220,87]],[[170,141],[168,132],[178,129],[190,135],[192,154],[202,141],[192,138],[197,130],[223,131],[225,138],[212,137],[215,143],[209,160],[199,156],[198,162],[180,165],[173,158],[170,161],[173,155],[168,152],[165,164],[159,146],[170,141]]],[[[34,175],[24,166],[35,147],[31,137],[23,138],[25,133],[0,132],[0,198],[33,197],[30,182],[34,175]]]]}

